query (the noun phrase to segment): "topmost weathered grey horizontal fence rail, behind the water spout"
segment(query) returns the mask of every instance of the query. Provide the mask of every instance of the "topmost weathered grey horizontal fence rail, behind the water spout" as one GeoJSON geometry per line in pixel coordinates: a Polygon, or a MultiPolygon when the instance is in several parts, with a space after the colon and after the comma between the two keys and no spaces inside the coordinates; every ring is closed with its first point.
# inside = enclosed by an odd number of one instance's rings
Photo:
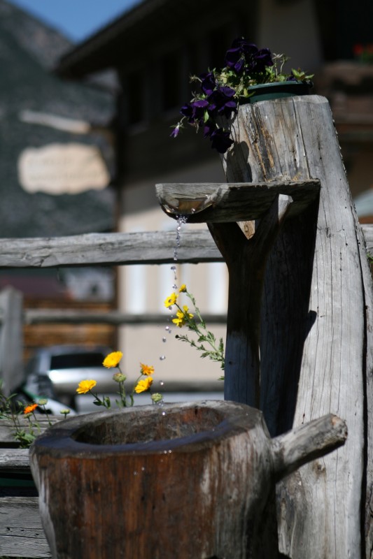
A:
{"type": "MultiPolygon", "coordinates": [[[[362,226],[373,253],[373,225],[362,226]]],[[[1,239],[0,268],[117,266],[174,263],[176,233],[92,233],[71,237],[1,239]]],[[[183,231],[178,261],[222,262],[209,231],[183,231]]]]}

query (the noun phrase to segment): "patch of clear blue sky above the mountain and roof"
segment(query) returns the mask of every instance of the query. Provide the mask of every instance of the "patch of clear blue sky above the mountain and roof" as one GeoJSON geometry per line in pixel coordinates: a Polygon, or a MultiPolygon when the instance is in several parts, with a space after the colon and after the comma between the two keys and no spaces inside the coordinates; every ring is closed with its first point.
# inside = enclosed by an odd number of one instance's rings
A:
{"type": "Polygon", "coordinates": [[[58,29],[71,41],[82,41],[141,0],[7,0],[58,29]]]}

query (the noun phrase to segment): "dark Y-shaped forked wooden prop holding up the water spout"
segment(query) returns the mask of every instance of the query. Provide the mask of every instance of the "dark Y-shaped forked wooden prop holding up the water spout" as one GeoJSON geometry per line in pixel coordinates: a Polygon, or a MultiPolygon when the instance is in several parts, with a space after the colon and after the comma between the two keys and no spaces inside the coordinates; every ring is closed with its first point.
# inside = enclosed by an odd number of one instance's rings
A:
{"type": "Polygon", "coordinates": [[[225,399],[260,407],[260,312],[265,266],[293,199],[280,194],[247,239],[236,223],[209,224],[230,273],[225,399]]]}

